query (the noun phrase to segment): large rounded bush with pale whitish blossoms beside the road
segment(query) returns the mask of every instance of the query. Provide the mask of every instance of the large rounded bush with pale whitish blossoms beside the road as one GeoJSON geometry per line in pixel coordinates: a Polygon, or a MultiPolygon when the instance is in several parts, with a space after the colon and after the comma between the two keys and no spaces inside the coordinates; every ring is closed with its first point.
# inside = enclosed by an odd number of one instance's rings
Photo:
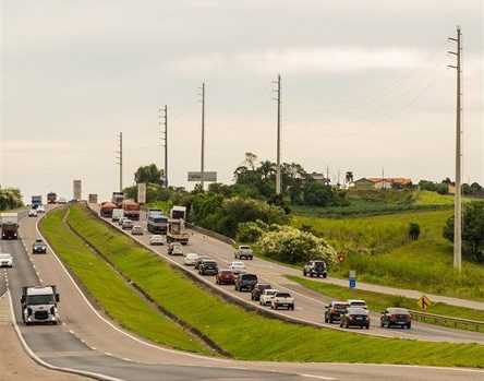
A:
{"type": "Polygon", "coordinates": [[[290,226],[265,233],[257,241],[256,248],[267,257],[287,263],[312,260],[336,263],[336,251],[323,238],[290,226]]]}

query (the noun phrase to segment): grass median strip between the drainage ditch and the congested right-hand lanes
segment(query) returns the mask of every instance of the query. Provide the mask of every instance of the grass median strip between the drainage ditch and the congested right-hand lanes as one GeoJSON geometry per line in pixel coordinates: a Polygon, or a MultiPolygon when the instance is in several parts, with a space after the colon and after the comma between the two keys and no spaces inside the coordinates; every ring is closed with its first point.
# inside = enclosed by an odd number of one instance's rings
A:
{"type": "Polygon", "coordinates": [[[237,358],[483,367],[484,346],[394,340],[314,329],[247,312],[174,271],[152,251],[72,206],[71,226],[170,312],[237,358]],[[388,350],[391,348],[391,350],[388,350]]]}

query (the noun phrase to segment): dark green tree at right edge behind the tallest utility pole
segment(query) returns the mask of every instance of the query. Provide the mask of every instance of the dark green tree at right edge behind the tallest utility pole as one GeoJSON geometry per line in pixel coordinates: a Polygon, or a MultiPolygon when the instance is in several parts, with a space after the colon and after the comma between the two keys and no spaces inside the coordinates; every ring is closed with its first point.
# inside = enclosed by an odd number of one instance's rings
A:
{"type": "MultiPolygon", "coordinates": [[[[447,219],[443,229],[444,238],[453,242],[453,216],[447,219]]],[[[484,202],[473,201],[462,213],[462,248],[464,253],[484,262],[484,202]]]]}

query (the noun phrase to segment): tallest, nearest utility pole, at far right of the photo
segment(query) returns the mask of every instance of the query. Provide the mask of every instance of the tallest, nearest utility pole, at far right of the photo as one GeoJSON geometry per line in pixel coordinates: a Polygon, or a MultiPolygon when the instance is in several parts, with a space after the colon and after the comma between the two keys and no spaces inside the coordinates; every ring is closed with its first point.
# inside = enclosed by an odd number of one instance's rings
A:
{"type": "Polygon", "coordinates": [[[457,38],[449,37],[450,40],[457,43],[457,51],[449,53],[457,57],[457,64],[453,68],[457,71],[457,119],[456,119],[456,192],[453,198],[453,267],[460,272],[462,269],[462,200],[461,200],[461,167],[462,167],[462,106],[461,106],[461,32],[460,26],[457,27],[457,38]]]}

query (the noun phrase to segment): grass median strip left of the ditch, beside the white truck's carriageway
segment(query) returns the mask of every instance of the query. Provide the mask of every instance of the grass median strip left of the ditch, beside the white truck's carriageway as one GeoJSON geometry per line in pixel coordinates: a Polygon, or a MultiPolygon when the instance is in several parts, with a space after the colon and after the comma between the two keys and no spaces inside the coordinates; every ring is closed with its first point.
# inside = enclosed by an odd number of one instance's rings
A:
{"type": "Polygon", "coordinates": [[[65,209],[40,222],[43,235],[107,314],[128,330],[155,343],[209,353],[195,337],[168,320],[137,295],[109,265],[95,255],[62,222],[65,209]]]}

